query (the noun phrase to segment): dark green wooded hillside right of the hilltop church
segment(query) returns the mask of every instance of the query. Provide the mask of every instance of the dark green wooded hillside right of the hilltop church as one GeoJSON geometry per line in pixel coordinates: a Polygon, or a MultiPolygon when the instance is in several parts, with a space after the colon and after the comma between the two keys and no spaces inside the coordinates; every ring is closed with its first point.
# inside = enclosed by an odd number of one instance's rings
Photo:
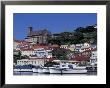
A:
{"type": "Polygon", "coordinates": [[[92,26],[78,27],[73,32],[62,32],[53,34],[53,37],[48,38],[51,44],[77,44],[77,43],[97,43],[97,28],[92,26]]]}

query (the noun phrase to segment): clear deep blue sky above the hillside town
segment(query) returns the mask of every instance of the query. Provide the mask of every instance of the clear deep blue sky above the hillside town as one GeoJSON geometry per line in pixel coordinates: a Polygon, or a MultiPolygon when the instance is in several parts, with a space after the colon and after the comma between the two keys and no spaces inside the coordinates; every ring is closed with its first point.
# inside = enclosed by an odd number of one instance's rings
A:
{"type": "Polygon", "coordinates": [[[15,39],[23,40],[29,26],[33,30],[48,29],[51,33],[60,33],[94,24],[97,24],[96,13],[14,13],[13,34],[15,39]]]}

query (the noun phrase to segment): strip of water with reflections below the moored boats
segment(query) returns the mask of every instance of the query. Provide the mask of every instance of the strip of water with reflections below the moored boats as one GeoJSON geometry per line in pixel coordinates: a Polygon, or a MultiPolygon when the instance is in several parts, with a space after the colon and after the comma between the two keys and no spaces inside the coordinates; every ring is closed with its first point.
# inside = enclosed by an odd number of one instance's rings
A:
{"type": "Polygon", "coordinates": [[[13,75],[33,75],[33,76],[52,76],[52,75],[97,75],[97,72],[88,72],[87,74],[39,74],[39,73],[33,73],[33,72],[14,72],[13,75]]]}

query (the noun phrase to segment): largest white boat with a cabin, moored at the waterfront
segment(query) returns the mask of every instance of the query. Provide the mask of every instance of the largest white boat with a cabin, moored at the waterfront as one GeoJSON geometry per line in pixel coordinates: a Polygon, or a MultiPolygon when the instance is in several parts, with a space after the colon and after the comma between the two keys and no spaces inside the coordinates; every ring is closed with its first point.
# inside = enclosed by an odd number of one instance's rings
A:
{"type": "Polygon", "coordinates": [[[60,63],[58,67],[51,67],[49,70],[51,74],[87,73],[86,67],[80,67],[69,63],[60,63]]]}

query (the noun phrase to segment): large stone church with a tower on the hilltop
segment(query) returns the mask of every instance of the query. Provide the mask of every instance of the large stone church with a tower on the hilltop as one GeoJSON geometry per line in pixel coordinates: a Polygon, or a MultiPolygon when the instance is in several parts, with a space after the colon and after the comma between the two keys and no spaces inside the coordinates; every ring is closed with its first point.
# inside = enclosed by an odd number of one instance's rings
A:
{"type": "Polygon", "coordinates": [[[28,27],[28,34],[25,40],[30,43],[47,44],[48,43],[47,39],[50,36],[51,33],[46,29],[33,31],[32,27],[28,27]]]}

